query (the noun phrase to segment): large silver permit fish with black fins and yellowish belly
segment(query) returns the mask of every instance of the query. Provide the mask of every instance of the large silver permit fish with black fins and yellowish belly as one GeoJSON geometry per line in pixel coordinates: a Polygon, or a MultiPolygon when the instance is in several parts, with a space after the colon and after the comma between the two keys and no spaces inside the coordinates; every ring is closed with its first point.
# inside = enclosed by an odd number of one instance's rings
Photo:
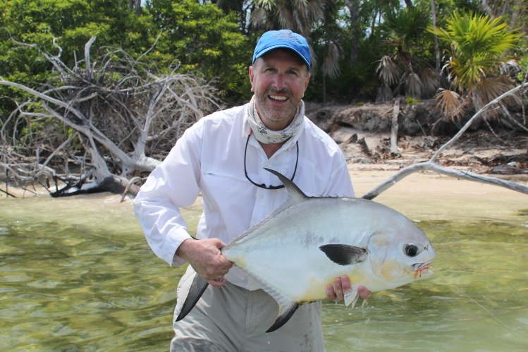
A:
{"type": "MultiPolygon", "coordinates": [[[[227,260],[256,280],[278,303],[267,332],[286,324],[297,308],[326,298],[326,286],[348,275],[357,301],[358,286],[383,291],[430,277],[434,249],[425,233],[405,216],[372,200],[307,197],[288,178],[275,212],[221,248],[227,260]]],[[[207,281],[196,274],[176,321],[192,310],[207,281]]]]}

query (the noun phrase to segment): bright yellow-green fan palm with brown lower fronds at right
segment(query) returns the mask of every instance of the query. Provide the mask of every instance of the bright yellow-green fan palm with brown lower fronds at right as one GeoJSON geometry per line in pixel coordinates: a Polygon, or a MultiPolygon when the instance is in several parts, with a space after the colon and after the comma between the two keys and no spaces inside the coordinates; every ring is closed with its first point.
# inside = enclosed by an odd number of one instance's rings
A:
{"type": "MultiPolygon", "coordinates": [[[[520,36],[508,31],[501,17],[455,12],[448,18],[445,30],[431,27],[429,31],[449,48],[444,68],[450,87],[436,95],[448,119],[460,117],[470,104],[479,110],[510,90],[514,82],[501,68],[515,64],[505,52],[515,47],[520,36]]],[[[487,111],[485,116],[497,116],[499,112],[487,111]]]]}

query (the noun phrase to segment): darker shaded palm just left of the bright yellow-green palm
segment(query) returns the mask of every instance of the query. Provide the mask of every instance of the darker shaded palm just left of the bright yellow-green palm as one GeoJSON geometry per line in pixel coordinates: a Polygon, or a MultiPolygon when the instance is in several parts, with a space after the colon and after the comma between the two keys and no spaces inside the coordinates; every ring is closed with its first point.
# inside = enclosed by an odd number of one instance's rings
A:
{"type": "Polygon", "coordinates": [[[388,12],[379,25],[385,44],[395,47],[391,55],[379,60],[376,73],[381,80],[377,101],[392,99],[402,92],[412,97],[432,96],[437,75],[424,61],[411,53],[429,25],[429,13],[419,8],[388,12]]]}

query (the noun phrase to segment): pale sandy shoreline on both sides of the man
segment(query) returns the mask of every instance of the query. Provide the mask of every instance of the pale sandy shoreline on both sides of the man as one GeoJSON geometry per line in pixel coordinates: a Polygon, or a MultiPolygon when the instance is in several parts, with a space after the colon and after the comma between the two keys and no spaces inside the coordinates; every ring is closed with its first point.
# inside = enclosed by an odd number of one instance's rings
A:
{"type": "MultiPolygon", "coordinates": [[[[386,164],[376,164],[376,167],[368,168],[348,164],[348,169],[356,197],[361,197],[399,170],[386,164]]],[[[528,186],[528,181],[515,182],[528,186]]],[[[5,190],[5,183],[0,188],[5,190]]],[[[0,193],[0,201],[49,197],[47,190],[42,186],[35,187],[35,194],[25,192],[23,188],[16,186],[10,186],[8,190],[18,198],[6,198],[5,193],[0,193]]],[[[51,197],[49,199],[54,202],[65,202],[65,205],[67,203],[73,207],[82,207],[87,212],[101,206],[108,207],[109,210],[125,207],[131,211],[132,208],[132,198],[127,197],[121,202],[121,195],[113,193],[73,195],[60,200],[51,197]]],[[[374,201],[388,205],[412,219],[507,217],[519,220],[519,215],[528,213],[528,195],[524,193],[440,175],[433,171],[418,171],[410,174],[374,198],[374,201]],[[462,212],[460,212],[461,208],[462,212]]],[[[200,202],[199,198],[195,205],[200,205],[200,202]]]]}

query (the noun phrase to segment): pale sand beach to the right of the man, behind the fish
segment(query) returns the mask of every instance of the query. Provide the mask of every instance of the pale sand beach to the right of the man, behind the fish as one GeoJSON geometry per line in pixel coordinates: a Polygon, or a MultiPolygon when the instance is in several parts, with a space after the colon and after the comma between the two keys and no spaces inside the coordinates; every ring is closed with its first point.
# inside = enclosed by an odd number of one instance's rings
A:
{"type": "MultiPolygon", "coordinates": [[[[349,170],[357,197],[397,172],[356,171],[353,164],[349,170]]],[[[528,186],[526,181],[514,182],[528,186]]],[[[524,193],[430,171],[403,178],[374,200],[424,219],[516,217],[520,210],[528,210],[528,195],[524,193]]]]}

